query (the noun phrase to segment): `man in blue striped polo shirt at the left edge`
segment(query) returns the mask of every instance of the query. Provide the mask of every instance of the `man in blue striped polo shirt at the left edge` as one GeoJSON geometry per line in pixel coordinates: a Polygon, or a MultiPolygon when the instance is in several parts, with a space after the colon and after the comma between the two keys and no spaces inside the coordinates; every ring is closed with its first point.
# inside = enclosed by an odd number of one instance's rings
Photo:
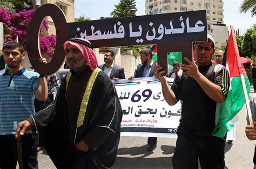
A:
{"type": "MultiPolygon", "coordinates": [[[[8,69],[0,74],[0,168],[15,168],[17,124],[35,114],[35,96],[46,100],[48,87],[44,76],[22,66],[25,51],[21,44],[5,44],[3,55],[8,69]]],[[[45,62],[44,58],[40,60],[45,62]]],[[[37,145],[38,139],[32,138],[31,132],[22,137],[24,168],[38,168],[37,145]]]]}

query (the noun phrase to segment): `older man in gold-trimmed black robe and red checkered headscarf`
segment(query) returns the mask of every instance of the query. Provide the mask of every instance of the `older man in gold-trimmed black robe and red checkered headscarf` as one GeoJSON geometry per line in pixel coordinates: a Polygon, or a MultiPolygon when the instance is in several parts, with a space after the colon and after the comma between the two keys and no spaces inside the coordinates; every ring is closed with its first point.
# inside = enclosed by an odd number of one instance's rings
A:
{"type": "Polygon", "coordinates": [[[98,67],[89,41],[64,44],[71,71],[53,104],[18,124],[16,138],[37,130],[57,168],[112,167],[117,156],[122,108],[109,77],[98,67]]]}

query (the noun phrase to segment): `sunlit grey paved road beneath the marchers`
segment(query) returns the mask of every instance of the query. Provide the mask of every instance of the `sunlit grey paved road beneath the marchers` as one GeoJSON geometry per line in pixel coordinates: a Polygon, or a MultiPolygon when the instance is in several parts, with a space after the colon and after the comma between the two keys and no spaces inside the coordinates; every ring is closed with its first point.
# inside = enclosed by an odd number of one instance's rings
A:
{"type": "MultiPolygon", "coordinates": [[[[225,147],[226,168],[253,168],[254,144],[246,138],[245,126],[246,108],[244,106],[239,112],[237,140],[234,140],[233,144],[227,143],[225,147]]],[[[113,168],[172,168],[176,139],[159,138],[157,149],[153,152],[146,151],[146,143],[146,137],[122,137],[113,168]]],[[[44,151],[39,152],[38,161],[40,168],[56,168],[44,151]]]]}

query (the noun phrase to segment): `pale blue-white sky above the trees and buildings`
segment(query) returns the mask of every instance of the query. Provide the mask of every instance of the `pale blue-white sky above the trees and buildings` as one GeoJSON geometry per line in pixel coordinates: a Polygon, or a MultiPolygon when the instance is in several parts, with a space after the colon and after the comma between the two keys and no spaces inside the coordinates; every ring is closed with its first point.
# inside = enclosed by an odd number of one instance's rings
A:
{"type": "MultiPolygon", "coordinates": [[[[239,8],[242,0],[223,0],[224,2],[224,24],[234,26],[234,30],[240,29],[244,34],[246,29],[256,24],[256,16],[252,17],[251,12],[240,13],[239,8]]],[[[75,18],[80,16],[89,17],[91,20],[100,17],[110,17],[110,13],[115,9],[119,0],[75,0],[75,18]]],[[[145,0],[136,0],[136,15],[145,15],[145,0]]]]}

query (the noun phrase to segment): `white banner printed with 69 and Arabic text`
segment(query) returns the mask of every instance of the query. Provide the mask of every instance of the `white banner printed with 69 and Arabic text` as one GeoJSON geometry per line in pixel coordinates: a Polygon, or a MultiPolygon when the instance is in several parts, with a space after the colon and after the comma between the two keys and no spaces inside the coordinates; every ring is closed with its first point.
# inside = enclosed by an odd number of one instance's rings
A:
{"type": "MultiPolygon", "coordinates": [[[[172,78],[166,78],[169,86],[172,78]]],[[[181,104],[164,100],[161,83],[153,77],[113,81],[122,105],[121,136],[177,138],[181,104]]],[[[235,131],[230,137],[234,139],[235,131]]]]}

